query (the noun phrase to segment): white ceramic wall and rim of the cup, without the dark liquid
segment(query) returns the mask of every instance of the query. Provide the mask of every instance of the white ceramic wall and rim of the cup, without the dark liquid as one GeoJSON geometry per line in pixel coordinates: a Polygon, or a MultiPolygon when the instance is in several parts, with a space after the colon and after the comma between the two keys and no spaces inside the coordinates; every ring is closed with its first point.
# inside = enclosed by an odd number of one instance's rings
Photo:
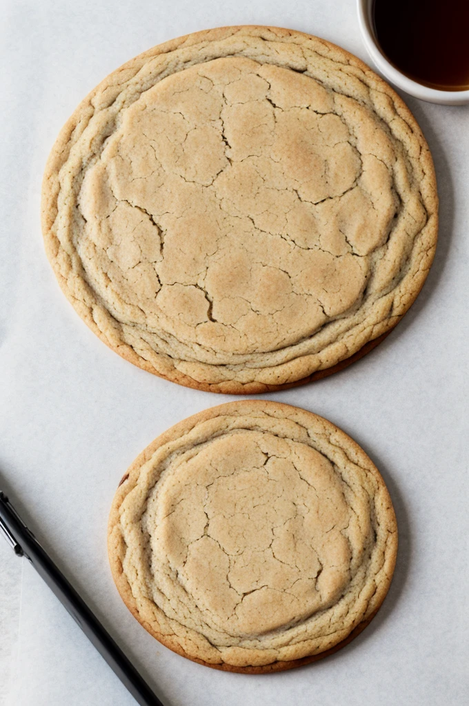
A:
{"type": "MultiPolygon", "coordinates": [[[[392,0],[388,1],[392,2],[392,0]]],[[[413,81],[405,74],[400,73],[396,66],[393,66],[386,59],[386,56],[379,48],[378,42],[376,42],[372,8],[373,0],[357,0],[358,23],[360,24],[360,30],[369,56],[371,56],[379,71],[391,83],[405,90],[406,93],[410,93],[410,95],[420,98],[420,100],[428,100],[431,103],[440,103],[442,105],[463,105],[469,103],[469,90],[437,90],[436,88],[422,85],[422,83],[417,83],[417,81],[413,81]]]]}

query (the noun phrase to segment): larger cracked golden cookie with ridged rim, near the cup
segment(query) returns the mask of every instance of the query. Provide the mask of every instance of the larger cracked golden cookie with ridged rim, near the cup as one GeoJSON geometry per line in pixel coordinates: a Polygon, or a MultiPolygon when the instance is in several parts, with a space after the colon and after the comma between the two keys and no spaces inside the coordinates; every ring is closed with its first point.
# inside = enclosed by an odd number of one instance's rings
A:
{"type": "Polygon", "coordinates": [[[393,328],[437,241],[432,157],[400,97],[301,32],[197,32],[81,103],[49,157],[43,232],[66,296],[134,364],[259,393],[393,328]]]}

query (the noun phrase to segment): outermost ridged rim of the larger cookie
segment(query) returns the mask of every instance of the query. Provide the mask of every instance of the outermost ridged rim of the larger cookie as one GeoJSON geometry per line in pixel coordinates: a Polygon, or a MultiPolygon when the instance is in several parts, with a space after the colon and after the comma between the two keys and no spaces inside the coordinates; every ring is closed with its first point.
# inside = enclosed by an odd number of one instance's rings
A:
{"type": "MultiPolygon", "coordinates": [[[[355,78],[358,78],[358,80],[360,80],[358,76],[355,76],[355,78]]],[[[285,390],[288,388],[295,387],[297,385],[302,385],[304,383],[324,378],[336,371],[344,369],[355,360],[363,357],[365,354],[367,354],[367,352],[369,352],[372,348],[378,345],[379,342],[381,342],[381,340],[383,340],[388,333],[391,332],[391,330],[398,323],[398,321],[400,321],[400,318],[404,316],[404,314],[413,304],[418,294],[420,293],[422,286],[424,285],[427,273],[432,265],[434,253],[437,246],[438,197],[437,181],[434,173],[434,164],[432,160],[432,155],[429,152],[427,141],[425,140],[425,137],[422,134],[420,126],[417,124],[417,121],[415,120],[414,116],[412,115],[408,107],[405,105],[405,102],[403,102],[403,100],[391,88],[391,86],[389,86],[386,81],[384,81],[374,71],[372,71],[372,69],[367,66],[367,64],[364,64],[363,61],[358,59],[353,54],[350,54],[350,52],[347,52],[342,47],[338,47],[336,44],[332,44],[331,42],[323,40],[321,39],[321,37],[309,35],[307,34],[307,32],[299,32],[297,30],[288,30],[285,28],[276,28],[262,25],[227,26],[221,28],[214,28],[211,30],[201,30],[200,32],[192,32],[189,35],[184,35],[182,37],[178,37],[177,39],[170,40],[169,42],[158,44],[152,49],[148,49],[147,52],[143,52],[142,54],[139,54],[130,61],[127,61],[120,68],[117,68],[115,71],[110,73],[109,76],[102,80],[90,93],[88,93],[88,95],[78,105],[69,120],[66,121],[66,124],[61,129],[56,143],[52,148],[52,152],[49,155],[49,159],[47,160],[44,172],[44,178],[42,181],[41,210],[44,246],[49,262],[51,263],[54,273],[59,282],[59,286],[61,287],[62,292],[64,292],[66,298],[69,299],[73,308],[77,311],[78,315],[83,319],[83,321],[85,321],[85,323],[88,325],[88,328],[90,328],[93,333],[95,333],[95,335],[97,335],[97,337],[102,340],[102,342],[104,342],[109,348],[119,354],[119,356],[121,356],[122,358],[140,367],[141,369],[153,373],[154,375],[157,375],[161,378],[165,378],[169,381],[178,383],[179,385],[184,385],[186,387],[194,388],[196,390],[203,390],[205,392],[214,393],[225,393],[229,395],[251,395],[273,392],[277,390],[285,390]],[[260,37],[265,40],[268,40],[269,38],[267,35],[269,35],[271,39],[281,39],[285,37],[296,36],[306,37],[309,40],[313,40],[314,42],[321,44],[324,49],[326,49],[326,52],[334,52],[340,54],[343,59],[348,62],[348,66],[352,66],[372,78],[376,90],[383,92],[385,95],[391,98],[396,112],[398,113],[398,116],[403,119],[403,121],[405,121],[405,123],[410,128],[410,131],[412,131],[412,133],[417,136],[421,147],[419,160],[422,164],[422,169],[424,170],[426,176],[429,179],[429,184],[425,189],[425,208],[427,210],[427,213],[429,213],[429,220],[432,220],[432,224],[430,227],[429,222],[427,222],[427,225],[425,227],[429,230],[429,240],[432,241],[432,244],[426,251],[424,263],[425,266],[423,268],[420,267],[414,274],[412,282],[412,292],[406,292],[405,304],[401,305],[401,309],[403,309],[402,313],[395,314],[391,316],[391,318],[381,321],[379,325],[375,325],[369,332],[369,339],[360,349],[355,349],[355,352],[353,352],[350,357],[338,361],[338,363],[334,364],[333,366],[329,366],[328,368],[324,369],[316,369],[316,371],[314,371],[313,373],[304,376],[301,374],[304,365],[301,364],[300,361],[304,360],[305,356],[300,356],[297,359],[293,359],[289,363],[280,364],[278,366],[279,376],[283,376],[284,379],[285,377],[292,378],[295,377],[295,374],[292,375],[290,372],[290,375],[285,375],[285,372],[282,372],[280,369],[283,369],[285,366],[289,366],[290,368],[295,367],[292,366],[292,363],[295,363],[295,361],[297,361],[297,368],[299,368],[299,377],[293,381],[284,381],[282,383],[277,384],[264,383],[261,381],[251,381],[248,383],[242,383],[240,381],[233,380],[225,380],[216,383],[204,382],[201,380],[196,380],[195,378],[184,373],[182,370],[177,369],[177,366],[173,362],[168,362],[168,364],[162,363],[162,367],[165,368],[164,372],[162,371],[162,369],[155,369],[155,366],[153,366],[150,361],[141,357],[130,345],[126,344],[122,340],[119,340],[119,327],[116,325],[116,323],[114,323],[113,325],[112,323],[109,323],[109,321],[107,322],[109,324],[110,329],[112,329],[114,326],[114,330],[109,330],[109,335],[106,335],[106,333],[98,325],[97,321],[95,321],[95,317],[93,316],[93,307],[90,308],[89,306],[86,306],[83,301],[73,296],[73,293],[71,292],[71,289],[67,284],[68,280],[66,280],[66,277],[64,277],[63,273],[61,272],[61,266],[58,263],[58,255],[61,250],[61,246],[53,232],[54,220],[58,213],[57,199],[59,197],[60,192],[58,177],[59,170],[68,158],[70,143],[71,139],[73,138],[74,131],[81,131],[82,129],[84,129],[83,122],[86,121],[86,124],[88,124],[89,119],[93,116],[95,112],[95,105],[93,103],[95,97],[102,96],[102,94],[105,93],[107,90],[112,90],[112,88],[116,85],[116,78],[119,74],[121,74],[122,76],[121,83],[124,83],[126,80],[132,78],[132,76],[135,76],[136,73],[138,73],[138,71],[142,68],[142,66],[146,64],[146,61],[153,59],[155,56],[159,56],[160,54],[167,54],[169,52],[174,51],[175,49],[191,47],[194,44],[200,44],[201,42],[210,42],[225,39],[228,37],[234,37],[235,35],[240,34],[242,32],[245,32],[248,36],[260,37]],[[87,114],[89,114],[88,119],[87,114]]],[[[160,354],[160,357],[167,358],[167,356],[163,356],[163,354],[160,354]]],[[[168,358],[168,361],[170,360],[172,359],[168,358]]]]}

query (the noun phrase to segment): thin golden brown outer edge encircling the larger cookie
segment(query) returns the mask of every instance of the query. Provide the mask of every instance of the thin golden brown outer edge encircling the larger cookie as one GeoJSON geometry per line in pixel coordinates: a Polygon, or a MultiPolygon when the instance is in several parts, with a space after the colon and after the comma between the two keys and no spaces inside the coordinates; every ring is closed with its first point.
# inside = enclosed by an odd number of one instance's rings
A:
{"type": "MultiPolygon", "coordinates": [[[[393,88],[391,88],[391,86],[386,83],[383,78],[381,78],[381,76],[379,76],[375,71],[373,71],[370,66],[368,66],[367,64],[365,64],[364,61],[355,56],[355,54],[351,54],[347,51],[347,49],[343,49],[343,47],[338,46],[338,44],[333,44],[333,42],[324,40],[321,37],[311,35],[307,32],[301,32],[299,30],[290,30],[287,28],[273,27],[270,25],[226,25],[224,27],[213,28],[210,30],[199,30],[198,32],[190,32],[187,35],[182,35],[181,37],[174,38],[173,40],[162,42],[162,44],[156,44],[155,47],[151,47],[146,52],[142,52],[141,54],[134,56],[133,59],[126,61],[124,64],[119,66],[119,68],[109,73],[108,76],[106,76],[100,83],[98,83],[97,86],[95,86],[95,88],[93,88],[93,90],[88,93],[87,96],[85,96],[81,103],[78,104],[78,107],[75,109],[71,117],[61,128],[59,136],[57,137],[57,140],[55,141],[52,150],[49,154],[46,168],[44,170],[44,177],[42,179],[41,222],[42,235],[44,238],[44,248],[47,253],[49,263],[52,265],[52,269],[54,270],[54,274],[57,277],[57,281],[59,282],[59,286],[61,287],[62,292],[64,292],[66,298],[73,306],[73,309],[75,309],[75,311],[78,313],[78,316],[83,319],[86,325],[88,325],[88,328],[90,328],[93,333],[97,335],[97,337],[100,338],[100,340],[102,340],[102,342],[107,345],[107,347],[116,352],[120,357],[133,363],[133,365],[136,365],[137,367],[146,370],[149,373],[153,373],[153,375],[155,376],[158,376],[170,382],[177,383],[178,385],[182,385],[184,387],[192,388],[195,390],[201,390],[203,392],[214,392],[227,395],[259,395],[267,392],[287,390],[289,388],[297,387],[299,385],[304,385],[310,382],[314,382],[316,380],[321,380],[322,378],[332,375],[335,372],[343,370],[356,360],[359,360],[360,358],[364,357],[364,355],[366,355],[369,351],[376,347],[379,342],[384,340],[388,333],[391,333],[391,330],[398,323],[398,321],[400,321],[400,318],[402,318],[405,313],[407,313],[407,311],[410,309],[410,306],[412,306],[415,299],[417,299],[418,294],[420,294],[420,291],[423,285],[425,284],[429,268],[432,266],[432,262],[434,260],[438,236],[437,179],[434,171],[434,162],[432,159],[432,154],[429,150],[427,140],[425,139],[425,136],[422,133],[422,130],[419,124],[417,123],[417,120],[415,119],[415,116],[412,114],[412,112],[405,104],[403,99],[400,97],[400,95],[398,95],[398,93],[393,90],[393,88]],[[57,263],[57,260],[54,257],[55,255],[57,255],[58,246],[57,238],[52,233],[52,225],[54,222],[54,218],[52,218],[51,214],[54,212],[54,210],[57,214],[57,208],[52,205],[52,203],[54,203],[54,195],[57,201],[57,195],[60,191],[58,179],[59,169],[60,166],[64,164],[64,161],[66,160],[66,157],[69,154],[69,150],[67,150],[67,145],[69,145],[71,134],[82,119],[83,111],[92,106],[93,97],[95,97],[95,95],[97,95],[98,93],[102,92],[102,90],[104,90],[107,85],[113,85],[111,78],[116,76],[116,74],[124,73],[125,71],[132,71],[135,66],[144,63],[146,59],[150,59],[150,57],[158,56],[158,54],[165,54],[167,52],[171,52],[174,49],[178,49],[179,47],[182,47],[184,45],[190,46],[191,44],[196,44],[201,40],[213,41],[218,40],[222,37],[232,37],[233,35],[237,34],[237,32],[241,32],[242,30],[260,32],[261,34],[258,36],[261,36],[262,32],[271,32],[274,35],[277,35],[278,37],[292,37],[296,35],[299,37],[307,37],[308,39],[319,42],[319,44],[322,44],[323,47],[328,51],[331,51],[332,49],[333,51],[338,52],[338,54],[342,54],[343,57],[348,60],[350,65],[356,66],[357,68],[360,68],[360,70],[364,73],[371,75],[376,85],[379,85],[379,89],[386,95],[391,97],[391,100],[393,101],[393,104],[396,107],[398,114],[401,118],[404,119],[405,123],[408,124],[408,126],[412,130],[412,133],[417,134],[421,146],[421,153],[419,159],[424,164],[425,175],[429,177],[430,180],[430,187],[429,189],[427,189],[426,195],[426,201],[429,201],[430,203],[426,203],[426,208],[427,205],[432,206],[432,212],[430,213],[430,218],[432,219],[430,239],[432,241],[432,244],[427,250],[427,267],[425,268],[425,270],[420,269],[415,274],[415,286],[414,289],[412,289],[412,292],[410,293],[410,297],[408,297],[408,304],[405,307],[405,311],[400,314],[400,316],[393,317],[394,321],[388,319],[388,329],[383,334],[379,335],[374,339],[369,340],[364,346],[362,346],[362,348],[355,351],[355,353],[353,353],[349,357],[339,361],[337,364],[334,364],[330,368],[315,371],[307,377],[299,378],[295,381],[287,383],[279,383],[278,385],[261,383],[258,381],[253,381],[251,383],[240,383],[239,381],[235,380],[222,381],[221,383],[204,383],[202,381],[196,380],[195,378],[191,378],[185,373],[182,373],[181,371],[177,370],[175,367],[172,368],[171,375],[163,375],[160,371],[157,371],[149,361],[139,356],[136,351],[128,344],[121,342],[119,345],[116,345],[114,342],[109,340],[105,333],[103,333],[102,330],[95,323],[90,309],[83,306],[81,301],[78,301],[75,297],[73,297],[73,294],[70,292],[70,289],[66,284],[64,276],[60,272],[59,263],[57,263]]],[[[429,225],[429,222],[427,222],[427,225],[429,225]]]]}

